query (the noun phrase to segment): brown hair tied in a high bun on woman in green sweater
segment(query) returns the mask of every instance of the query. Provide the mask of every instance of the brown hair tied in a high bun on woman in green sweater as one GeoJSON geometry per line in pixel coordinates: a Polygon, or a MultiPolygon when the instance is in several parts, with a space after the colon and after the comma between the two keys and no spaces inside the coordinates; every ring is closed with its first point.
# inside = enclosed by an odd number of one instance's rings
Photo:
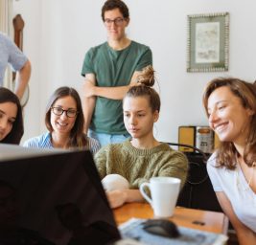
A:
{"type": "Polygon", "coordinates": [[[138,77],[138,85],[129,88],[127,97],[147,97],[151,106],[151,111],[160,112],[161,101],[158,93],[151,88],[154,84],[154,70],[151,65],[142,70],[142,74],[138,77]]]}

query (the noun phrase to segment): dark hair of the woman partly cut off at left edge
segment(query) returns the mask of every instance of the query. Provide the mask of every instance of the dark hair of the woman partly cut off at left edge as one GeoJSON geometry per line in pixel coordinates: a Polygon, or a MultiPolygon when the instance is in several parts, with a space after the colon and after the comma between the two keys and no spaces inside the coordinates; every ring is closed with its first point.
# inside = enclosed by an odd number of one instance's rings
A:
{"type": "Polygon", "coordinates": [[[1,143],[19,145],[20,140],[24,134],[22,108],[17,96],[11,90],[0,87],[0,103],[12,102],[17,106],[17,115],[12,124],[11,132],[1,141],[1,143]]]}

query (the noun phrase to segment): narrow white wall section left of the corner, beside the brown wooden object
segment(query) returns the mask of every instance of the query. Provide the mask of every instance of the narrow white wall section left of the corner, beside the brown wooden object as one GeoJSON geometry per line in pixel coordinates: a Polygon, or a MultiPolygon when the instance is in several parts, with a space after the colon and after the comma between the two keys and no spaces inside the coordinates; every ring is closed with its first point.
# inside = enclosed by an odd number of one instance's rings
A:
{"type": "Polygon", "coordinates": [[[13,16],[20,13],[25,21],[23,31],[23,52],[32,62],[32,77],[30,80],[30,100],[24,109],[25,134],[22,139],[35,136],[40,131],[41,108],[40,97],[40,39],[41,11],[40,0],[13,1],[13,16]]]}

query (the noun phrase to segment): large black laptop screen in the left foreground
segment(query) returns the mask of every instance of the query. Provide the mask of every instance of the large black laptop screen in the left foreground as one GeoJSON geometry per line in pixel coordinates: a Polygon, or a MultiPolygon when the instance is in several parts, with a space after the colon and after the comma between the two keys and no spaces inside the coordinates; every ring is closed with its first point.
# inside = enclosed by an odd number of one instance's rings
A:
{"type": "Polygon", "coordinates": [[[0,159],[0,244],[120,238],[89,151],[0,159]]]}

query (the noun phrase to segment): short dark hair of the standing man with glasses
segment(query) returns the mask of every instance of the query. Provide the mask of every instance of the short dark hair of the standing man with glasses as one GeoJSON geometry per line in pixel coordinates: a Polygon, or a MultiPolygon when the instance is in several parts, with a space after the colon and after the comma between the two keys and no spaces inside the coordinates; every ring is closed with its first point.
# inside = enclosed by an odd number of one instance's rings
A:
{"type": "Polygon", "coordinates": [[[102,8],[102,18],[105,21],[105,11],[119,9],[125,19],[128,19],[128,6],[122,0],[107,0],[102,8]]]}

